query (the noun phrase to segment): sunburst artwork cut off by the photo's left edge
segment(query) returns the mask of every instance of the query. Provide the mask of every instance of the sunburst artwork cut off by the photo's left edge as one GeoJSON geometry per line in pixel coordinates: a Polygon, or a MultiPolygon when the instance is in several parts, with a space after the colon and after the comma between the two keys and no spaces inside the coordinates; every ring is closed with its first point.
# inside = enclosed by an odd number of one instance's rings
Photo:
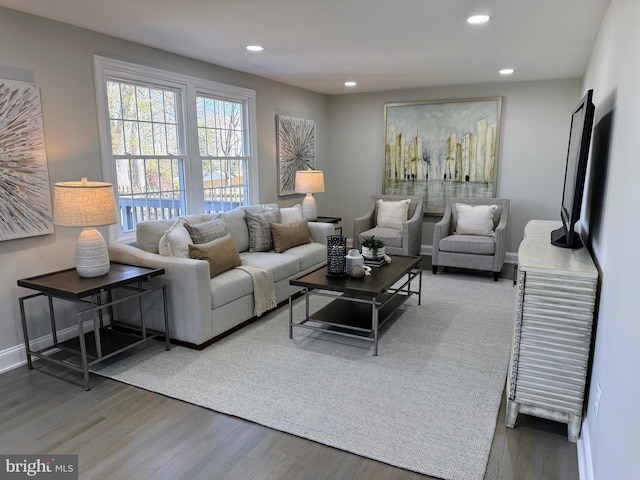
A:
{"type": "Polygon", "coordinates": [[[40,90],[0,79],[0,241],[53,233],[40,90]]]}

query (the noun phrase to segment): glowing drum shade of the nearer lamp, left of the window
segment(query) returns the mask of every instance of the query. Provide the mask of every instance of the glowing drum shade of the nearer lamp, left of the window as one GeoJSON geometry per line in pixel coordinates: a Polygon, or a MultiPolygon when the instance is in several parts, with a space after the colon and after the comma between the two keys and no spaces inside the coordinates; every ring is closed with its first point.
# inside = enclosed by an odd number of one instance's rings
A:
{"type": "Polygon", "coordinates": [[[113,186],[106,182],[58,182],[54,185],[53,223],[61,227],[100,227],[118,221],[113,186]]]}

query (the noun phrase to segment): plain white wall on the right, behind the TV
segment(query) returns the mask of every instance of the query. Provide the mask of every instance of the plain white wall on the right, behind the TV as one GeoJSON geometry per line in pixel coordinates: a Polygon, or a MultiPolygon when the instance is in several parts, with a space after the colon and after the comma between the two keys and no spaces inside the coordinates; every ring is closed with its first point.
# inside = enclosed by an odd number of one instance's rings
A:
{"type": "MultiPolygon", "coordinates": [[[[583,441],[597,480],[640,478],[640,2],[613,0],[591,55],[594,89],[591,205],[583,218],[601,273],[601,293],[583,441]],[[602,396],[596,417],[595,391],[602,396]]],[[[583,476],[587,478],[587,476],[583,476]]]]}

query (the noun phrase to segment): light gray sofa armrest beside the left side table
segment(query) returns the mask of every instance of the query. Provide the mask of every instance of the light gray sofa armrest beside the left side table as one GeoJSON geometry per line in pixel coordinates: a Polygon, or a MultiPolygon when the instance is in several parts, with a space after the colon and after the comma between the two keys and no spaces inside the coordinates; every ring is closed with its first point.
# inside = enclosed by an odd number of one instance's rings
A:
{"type": "Polygon", "coordinates": [[[109,258],[114,262],[164,268],[165,274],[156,278],[158,283],[164,283],[167,287],[169,333],[172,338],[196,345],[209,339],[211,279],[208,262],[167,257],[125,244],[111,244],[108,250],[109,258]],[[181,322],[183,318],[197,319],[197,322],[181,322]]]}

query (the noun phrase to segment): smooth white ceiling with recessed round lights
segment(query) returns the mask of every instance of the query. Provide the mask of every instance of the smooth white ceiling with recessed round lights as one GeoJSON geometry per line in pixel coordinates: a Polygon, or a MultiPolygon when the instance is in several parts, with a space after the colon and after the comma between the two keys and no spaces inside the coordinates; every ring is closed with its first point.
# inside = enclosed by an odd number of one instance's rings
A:
{"type": "Polygon", "coordinates": [[[609,0],[0,0],[324,94],[577,78],[609,0]],[[487,13],[484,25],[465,19],[487,13]],[[247,52],[249,44],[265,50],[247,52]],[[498,74],[503,67],[511,76],[498,74]],[[344,82],[354,80],[355,87],[344,82]]]}

